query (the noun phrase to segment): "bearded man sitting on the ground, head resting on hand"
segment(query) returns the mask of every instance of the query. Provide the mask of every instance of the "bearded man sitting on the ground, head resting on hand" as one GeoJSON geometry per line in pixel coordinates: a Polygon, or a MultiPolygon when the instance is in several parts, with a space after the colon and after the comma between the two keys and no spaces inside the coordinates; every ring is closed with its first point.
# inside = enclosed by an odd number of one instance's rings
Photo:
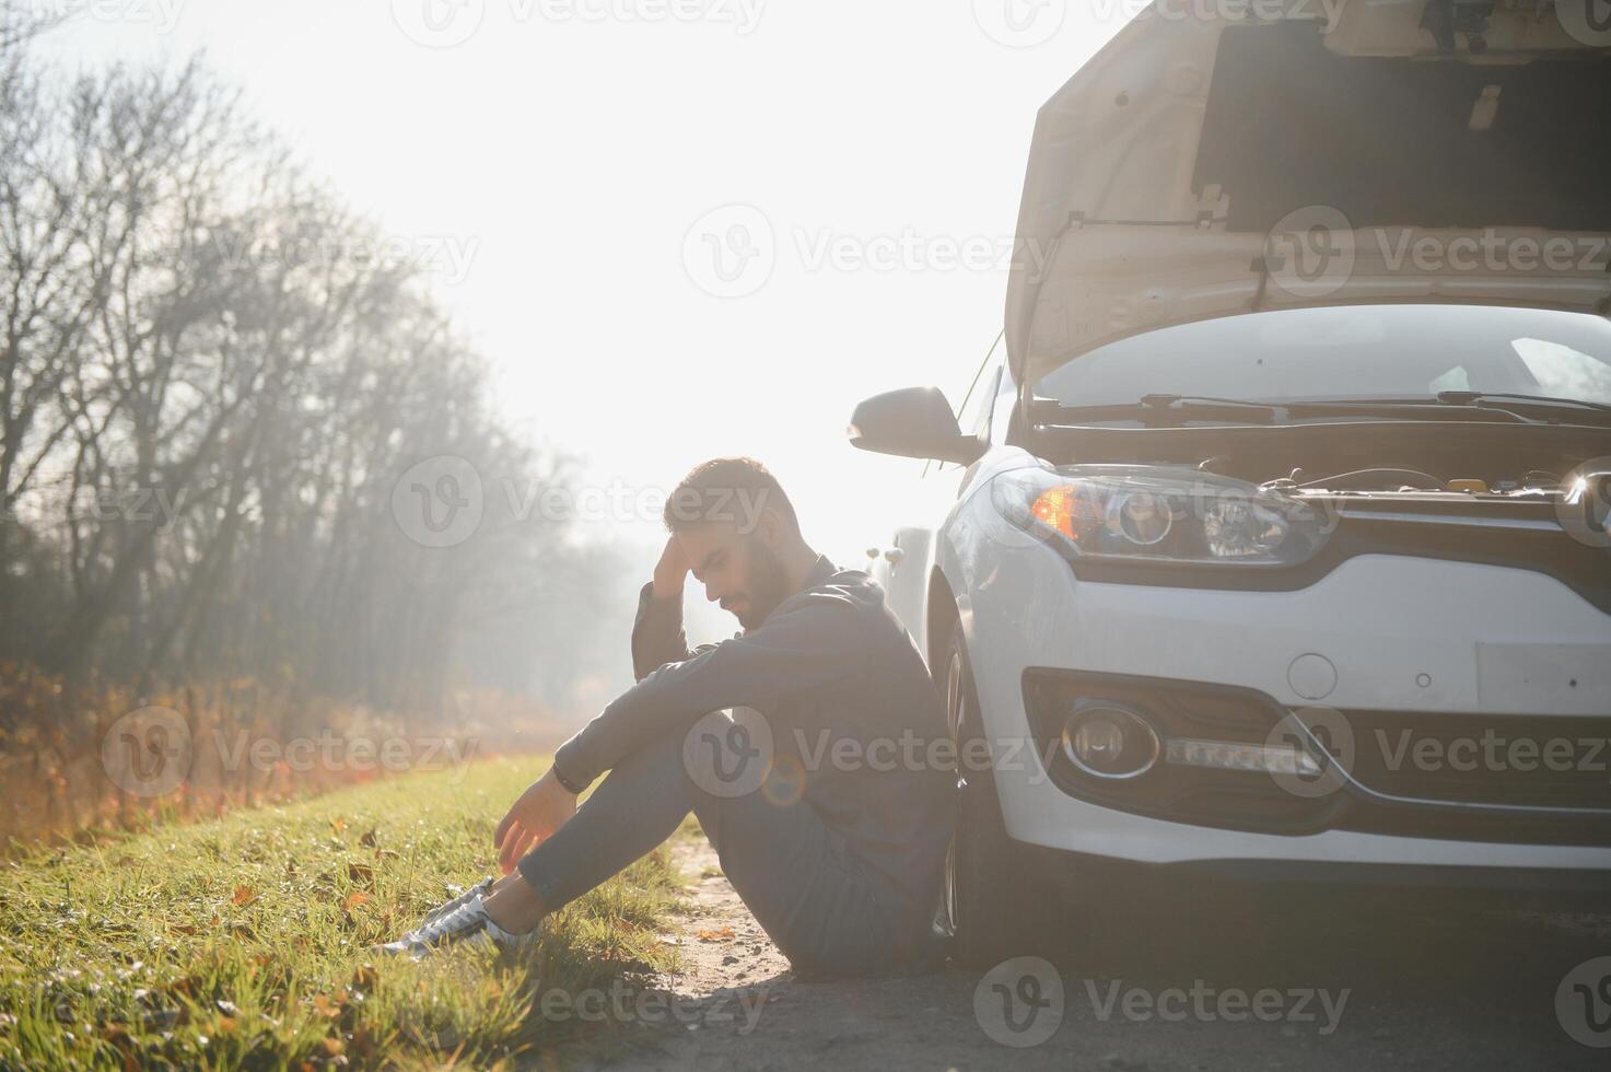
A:
{"type": "Polygon", "coordinates": [[[883,588],[807,546],[783,488],[749,458],[696,467],[664,521],[670,537],[632,635],[638,684],[567,740],[498,824],[504,877],[385,948],[517,948],[691,811],[799,974],[936,962],[955,772],[933,761],[944,706],[883,588]],[[741,634],[688,650],[688,574],[741,634]]]}

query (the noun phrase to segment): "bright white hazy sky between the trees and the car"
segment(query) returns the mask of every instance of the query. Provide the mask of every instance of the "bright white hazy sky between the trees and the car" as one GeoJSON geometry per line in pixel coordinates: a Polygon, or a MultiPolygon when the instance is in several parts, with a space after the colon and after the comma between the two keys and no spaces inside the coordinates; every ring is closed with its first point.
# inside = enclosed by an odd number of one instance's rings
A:
{"type": "Polygon", "coordinates": [[[960,403],[1002,326],[1036,110],[1134,13],[35,2],[81,11],[47,39],[68,64],[205,48],[316,174],[427,258],[511,418],[586,455],[601,493],[649,495],[606,513],[622,538],[657,546],[656,497],[746,453],[844,566],[955,490],[954,467],[920,482],[923,463],[849,447],[851,409],[918,384],[960,403]]]}

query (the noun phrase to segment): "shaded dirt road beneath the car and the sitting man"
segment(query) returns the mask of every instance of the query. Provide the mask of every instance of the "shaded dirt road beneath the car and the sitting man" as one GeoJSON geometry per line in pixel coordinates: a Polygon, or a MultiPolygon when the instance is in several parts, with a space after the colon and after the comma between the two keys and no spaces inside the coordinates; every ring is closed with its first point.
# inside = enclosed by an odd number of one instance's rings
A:
{"type": "Polygon", "coordinates": [[[1593,1032],[1571,987],[1564,1024],[1556,1011],[1566,974],[1611,954],[1611,916],[1448,912],[1390,896],[1276,912],[1203,904],[1200,919],[1160,920],[1144,938],[1126,930],[1126,948],[1102,953],[1104,974],[1015,964],[991,977],[802,983],[709,846],[677,851],[693,904],[665,940],[683,945],[688,967],[657,980],[677,998],[640,1008],[643,1022],[607,1056],[574,1048],[533,1067],[1611,1067],[1611,1048],[1568,1033],[1593,1032]]]}

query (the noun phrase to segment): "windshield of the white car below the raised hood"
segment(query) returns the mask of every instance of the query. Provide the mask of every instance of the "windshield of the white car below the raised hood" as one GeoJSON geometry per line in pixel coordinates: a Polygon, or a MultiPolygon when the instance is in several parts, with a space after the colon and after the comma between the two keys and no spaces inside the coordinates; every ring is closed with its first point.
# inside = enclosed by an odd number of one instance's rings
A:
{"type": "Polygon", "coordinates": [[[1611,322],[1474,305],[1271,310],[1121,339],[1034,385],[1065,406],[1158,393],[1282,401],[1450,390],[1611,403],[1611,322]]]}

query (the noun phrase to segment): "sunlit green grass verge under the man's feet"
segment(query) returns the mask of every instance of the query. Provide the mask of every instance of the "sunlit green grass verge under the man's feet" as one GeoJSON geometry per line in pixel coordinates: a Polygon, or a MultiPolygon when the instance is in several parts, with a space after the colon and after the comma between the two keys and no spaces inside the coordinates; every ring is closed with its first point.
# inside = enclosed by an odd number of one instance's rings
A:
{"type": "Polygon", "coordinates": [[[543,995],[675,967],[664,846],[549,917],[519,959],[372,958],[496,870],[546,766],[493,759],[0,862],[0,1067],[498,1067],[599,1024],[543,995]]]}

